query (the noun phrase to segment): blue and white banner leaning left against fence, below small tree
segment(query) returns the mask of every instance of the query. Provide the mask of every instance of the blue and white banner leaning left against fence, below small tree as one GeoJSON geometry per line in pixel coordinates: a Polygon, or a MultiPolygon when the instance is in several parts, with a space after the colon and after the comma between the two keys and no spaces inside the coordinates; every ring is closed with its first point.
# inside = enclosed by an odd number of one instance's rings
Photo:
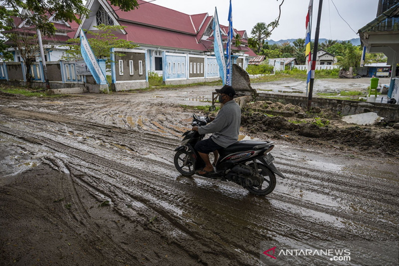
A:
{"type": "Polygon", "coordinates": [[[93,50],[91,49],[86,35],[82,29],[80,29],[80,52],[82,53],[83,60],[86,62],[86,65],[97,84],[107,84],[107,79],[105,78],[105,75],[98,64],[93,50]]]}

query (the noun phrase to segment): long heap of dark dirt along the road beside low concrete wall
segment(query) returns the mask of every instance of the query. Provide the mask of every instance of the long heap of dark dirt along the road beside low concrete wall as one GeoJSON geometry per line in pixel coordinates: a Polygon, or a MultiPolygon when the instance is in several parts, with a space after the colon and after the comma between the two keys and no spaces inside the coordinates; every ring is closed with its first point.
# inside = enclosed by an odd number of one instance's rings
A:
{"type": "Polygon", "coordinates": [[[242,111],[241,126],[251,133],[264,133],[273,138],[298,141],[303,139],[317,139],[330,141],[332,144],[341,144],[362,149],[379,149],[383,152],[399,152],[399,132],[378,126],[350,126],[329,124],[329,120],[320,119],[321,126],[314,118],[299,120],[281,116],[270,116],[259,112],[242,111]],[[289,137],[288,137],[288,135],[289,137]]]}

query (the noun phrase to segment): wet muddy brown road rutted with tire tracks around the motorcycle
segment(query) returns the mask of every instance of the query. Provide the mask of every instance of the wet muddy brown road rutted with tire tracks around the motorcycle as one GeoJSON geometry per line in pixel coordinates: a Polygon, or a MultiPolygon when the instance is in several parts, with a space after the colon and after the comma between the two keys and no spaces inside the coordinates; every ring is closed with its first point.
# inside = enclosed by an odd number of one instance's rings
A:
{"type": "Polygon", "coordinates": [[[398,240],[395,156],[277,140],[287,179],[266,197],[180,176],[179,104],[212,90],[0,95],[0,264],[263,265],[265,241],[398,240]]]}

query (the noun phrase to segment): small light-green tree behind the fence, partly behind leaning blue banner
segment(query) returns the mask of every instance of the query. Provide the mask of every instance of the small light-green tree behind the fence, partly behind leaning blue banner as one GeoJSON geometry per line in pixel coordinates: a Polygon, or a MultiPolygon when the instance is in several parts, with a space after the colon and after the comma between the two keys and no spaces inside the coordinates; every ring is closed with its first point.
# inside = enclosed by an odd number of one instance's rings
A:
{"type": "MultiPolygon", "coordinates": [[[[111,67],[111,57],[110,57],[110,49],[111,48],[127,48],[132,49],[137,47],[137,44],[134,44],[130,41],[120,39],[115,36],[114,32],[125,28],[126,26],[118,26],[118,25],[98,25],[94,26],[97,30],[88,30],[86,32],[87,36],[91,36],[91,38],[87,38],[90,43],[91,48],[93,49],[94,55],[97,59],[104,58],[106,59],[107,68],[111,67]]],[[[72,42],[74,44],[68,45],[69,50],[66,51],[65,55],[62,56],[62,60],[71,60],[71,59],[82,59],[82,55],[80,53],[80,38],[69,39],[68,42],[72,42]]],[[[119,56],[124,56],[123,53],[115,53],[119,56]]]]}

